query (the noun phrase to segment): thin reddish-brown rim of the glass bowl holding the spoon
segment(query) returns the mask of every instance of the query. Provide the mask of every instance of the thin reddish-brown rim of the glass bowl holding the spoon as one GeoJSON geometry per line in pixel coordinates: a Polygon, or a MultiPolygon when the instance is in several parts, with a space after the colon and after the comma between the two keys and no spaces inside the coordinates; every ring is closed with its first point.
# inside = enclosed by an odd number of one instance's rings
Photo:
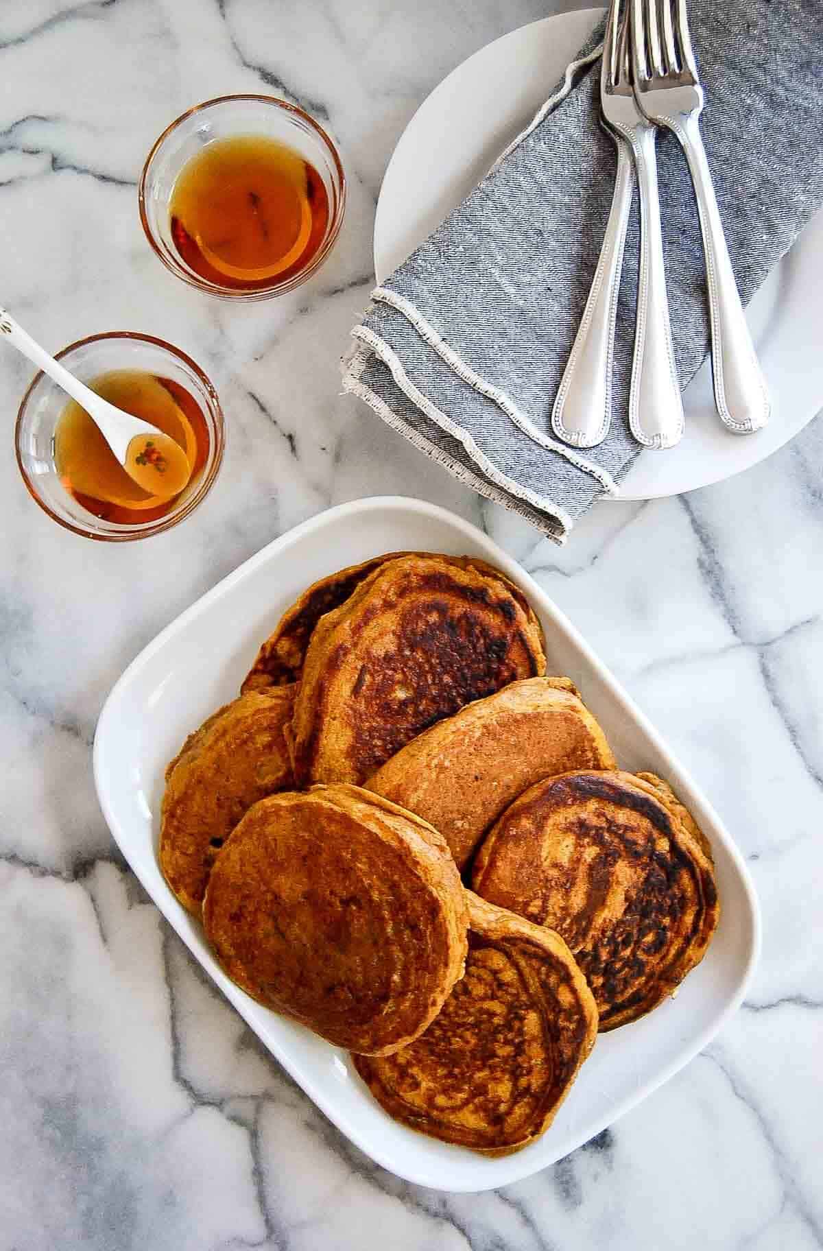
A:
{"type": "MultiPolygon", "coordinates": [[[[18,417],[14,424],[14,450],[18,460],[18,469],[20,470],[20,477],[23,478],[26,490],[29,492],[34,502],[40,505],[44,513],[46,513],[53,522],[56,522],[58,525],[63,525],[64,529],[66,530],[73,530],[73,533],[79,534],[84,539],[94,539],[98,543],[128,543],[133,539],[151,538],[154,534],[161,534],[164,530],[171,529],[173,525],[176,525],[179,522],[184,520],[205,499],[205,497],[208,495],[214,484],[214,479],[218,475],[220,465],[223,464],[223,453],[225,449],[225,419],[223,415],[223,408],[220,407],[220,399],[218,397],[216,390],[214,389],[214,384],[211,383],[211,379],[203,372],[196,360],[193,360],[191,357],[188,353],[183,352],[181,348],[175,348],[173,343],[166,343],[165,339],[159,339],[154,334],[143,334],[139,330],[104,330],[101,334],[89,334],[86,335],[85,339],[76,339],[68,347],[61,348],[60,352],[55,352],[54,359],[63,360],[64,357],[68,357],[69,353],[75,352],[78,348],[85,348],[91,343],[100,343],[103,340],[109,340],[109,339],[138,340],[139,343],[148,343],[153,348],[160,348],[163,352],[170,353],[173,357],[176,357],[179,360],[181,360],[183,364],[191,370],[191,373],[196,377],[198,382],[203,385],[204,390],[206,392],[206,395],[209,397],[211,424],[214,425],[214,430],[209,429],[209,435],[213,442],[214,459],[210,469],[208,470],[208,473],[203,475],[199,487],[191,494],[191,498],[186,500],[186,503],[183,505],[183,508],[180,508],[179,512],[171,510],[169,513],[165,513],[163,517],[156,518],[155,522],[146,522],[145,525],[135,525],[134,529],[128,529],[124,530],[123,533],[115,532],[111,534],[95,534],[88,527],[84,527],[76,522],[68,520],[65,517],[60,517],[58,513],[55,513],[54,509],[50,508],[49,504],[46,504],[45,499],[43,499],[39,492],[35,489],[34,483],[31,482],[31,477],[29,475],[23,463],[23,454],[20,449],[23,425],[25,420],[26,409],[29,407],[29,400],[34,394],[35,387],[39,385],[41,379],[49,377],[46,373],[44,373],[43,369],[38,369],[36,374],[26,387],[23,399],[20,400],[20,407],[18,408],[18,417]]],[[[54,383],[54,385],[58,387],[56,383],[54,383]]],[[[60,388],[58,387],[58,390],[60,388]]]]}

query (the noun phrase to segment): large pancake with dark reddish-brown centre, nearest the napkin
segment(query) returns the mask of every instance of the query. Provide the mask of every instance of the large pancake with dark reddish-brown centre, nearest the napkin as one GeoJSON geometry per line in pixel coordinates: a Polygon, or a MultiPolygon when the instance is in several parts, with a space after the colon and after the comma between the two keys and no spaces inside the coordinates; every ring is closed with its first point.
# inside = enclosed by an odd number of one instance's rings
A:
{"type": "Polygon", "coordinates": [[[497,574],[409,555],[318,622],[288,737],[298,786],[369,778],[422,729],[543,673],[537,618],[497,574]]]}

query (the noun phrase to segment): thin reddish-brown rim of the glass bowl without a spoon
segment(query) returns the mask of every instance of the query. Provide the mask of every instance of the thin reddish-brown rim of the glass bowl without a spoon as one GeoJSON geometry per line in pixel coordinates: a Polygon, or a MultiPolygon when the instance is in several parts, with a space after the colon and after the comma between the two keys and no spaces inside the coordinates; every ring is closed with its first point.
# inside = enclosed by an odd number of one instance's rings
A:
{"type": "Polygon", "coordinates": [[[311,114],[306,113],[305,109],[301,109],[299,104],[291,104],[289,100],[281,100],[280,96],[278,95],[264,95],[258,91],[239,91],[233,95],[215,95],[210,100],[203,100],[200,104],[194,104],[191,105],[190,109],[186,109],[185,113],[181,113],[178,118],[175,118],[174,121],[169,123],[165,130],[160,135],[158,135],[158,138],[153,143],[151,148],[149,149],[149,155],[144,161],[143,171],[140,174],[140,181],[138,183],[138,204],[140,208],[140,225],[143,226],[143,233],[149,240],[151,250],[163,261],[169,273],[174,274],[175,278],[181,279],[184,283],[188,283],[189,286],[194,286],[196,290],[204,291],[206,295],[213,295],[215,299],[239,300],[239,301],[245,300],[246,303],[251,303],[254,300],[265,300],[265,299],[273,299],[276,295],[285,295],[288,291],[294,290],[295,286],[300,286],[303,283],[305,283],[306,279],[309,279],[311,274],[314,274],[320,268],[325,258],[329,255],[329,251],[334,246],[334,243],[336,241],[336,238],[340,233],[340,226],[343,225],[343,218],[345,215],[346,190],[348,185],[346,185],[345,170],[343,169],[343,161],[340,160],[340,153],[338,151],[338,146],[331,139],[331,136],[328,134],[328,131],[324,130],[320,123],[316,121],[311,116],[311,114]],[[296,118],[300,118],[303,121],[305,121],[309,125],[309,128],[315,131],[320,143],[331,156],[334,171],[339,183],[338,206],[334,216],[330,220],[329,233],[324,239],[321,246],[318,248],[318,250],[315,251],[314,256],[311,258],[306,268],[299,270],[285,283],[273,284],[271,286],[258,288],[256,290],[243,290],[230,286],[220,286],[216,283],[209,283],[208,279],[200,278],[199,275],[190,273],[183,265],[178,266],[169,256],[166,256],[165,251],[158,245],[158,240],[154,236],[154,231],[149,223],[149,214],[146,211],[146,185],[149,181],[149,168],[154,158],[158,155],[160,149],[165,144],[166,139],[169,139],[169,136],[173,134],[173,131],[178,129],[178,126],[183,125],[184,121],[188,121],[188,119],[193,118],[196,113],[203,113],[204,109],[214,109],[223,104],[233,104],[236,100],[249,100],[254,101],[255,104],[270,104],[278,109],[283,109],[285,113],[291,113],[296,118]]]}

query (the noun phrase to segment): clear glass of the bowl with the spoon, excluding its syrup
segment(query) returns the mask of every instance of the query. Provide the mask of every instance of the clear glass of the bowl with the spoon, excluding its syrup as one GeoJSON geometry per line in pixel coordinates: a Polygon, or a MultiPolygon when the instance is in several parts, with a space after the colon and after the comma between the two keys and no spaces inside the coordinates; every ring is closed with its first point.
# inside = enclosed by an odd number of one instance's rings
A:
{"type": "Polygon", "coordinates": [[[54,459],[54,435],[69,397],[46,374],[39,373],[20,404],[15,447],[23,480],[49,517],[84,538],[123,543],[160,534],[194,512],[218,475],[224,445],[223,410],[216,392],[194,360],[163,339],[126,330],[80,339],[59,352],[56,359],[81,383],[89,383],[110,369],[144,369],[179,383],[200,405],[209,433],[209,452],[196,482],[190,483],[173,508],[156,520],[125,525],[95,517],[60,482],[54,459]]]}

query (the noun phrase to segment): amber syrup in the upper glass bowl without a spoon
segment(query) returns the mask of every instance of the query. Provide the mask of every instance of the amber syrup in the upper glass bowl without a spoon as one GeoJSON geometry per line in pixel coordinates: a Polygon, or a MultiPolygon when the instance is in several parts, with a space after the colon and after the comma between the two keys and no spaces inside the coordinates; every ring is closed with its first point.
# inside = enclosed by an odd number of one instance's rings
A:
{"type": "Polygon", "coordinates": [[[329,223],[314,165],[285,144],[236,135],[206,144],[171,191],[171,238],[201,278],[238,290],[286,281],[305,269],[329,223]]]}

